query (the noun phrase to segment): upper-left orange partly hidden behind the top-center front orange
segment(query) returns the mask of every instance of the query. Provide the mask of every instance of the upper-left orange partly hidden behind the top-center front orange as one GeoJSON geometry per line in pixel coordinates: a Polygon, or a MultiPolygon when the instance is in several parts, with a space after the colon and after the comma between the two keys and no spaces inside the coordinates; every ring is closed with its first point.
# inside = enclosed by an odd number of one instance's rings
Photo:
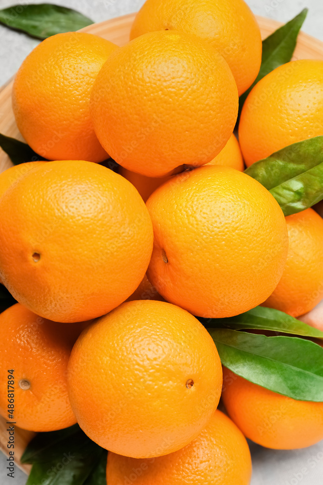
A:
{"type": "Polygon", "coordinates": [[[90,117],[93,82],[115,44],[97,35],[66,32],[41,42],[20,66],[13,108],[28,145],[48,160],[102,162],[90,117]]]}

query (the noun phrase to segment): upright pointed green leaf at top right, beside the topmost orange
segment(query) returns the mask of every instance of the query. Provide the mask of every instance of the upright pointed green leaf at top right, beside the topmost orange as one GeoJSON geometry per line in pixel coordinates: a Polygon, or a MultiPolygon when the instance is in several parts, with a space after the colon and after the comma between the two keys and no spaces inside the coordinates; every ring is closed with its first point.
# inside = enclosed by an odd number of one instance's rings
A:
{"type": "Polygon", "coordinates": [[[269,35],[269,37],[262,41],[260,71],[249,89],[247,89],[247,91],[240,96],[239,114],[241,113],[242,106],[246,101],[246,97],[255,84],[257,84],[257,82],[264,78],[268,73],[276,69],[276,67],[290,62],[296,47],[298,33],[307,14],[308,9],[305,8],[300,14],[296,15],[296,17],[287,22],[287,24],[277,29],[277,31],[273,32],[271,35],[269,35]]]}

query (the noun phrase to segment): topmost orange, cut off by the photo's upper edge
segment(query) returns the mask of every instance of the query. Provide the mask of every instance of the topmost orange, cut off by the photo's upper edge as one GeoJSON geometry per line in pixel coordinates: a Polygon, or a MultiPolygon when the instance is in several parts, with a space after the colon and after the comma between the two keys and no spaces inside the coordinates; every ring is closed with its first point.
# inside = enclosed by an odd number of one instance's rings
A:
{"type": "Polygon", "coordinates": [[[147,0],[135,18],[130,38],[159,30],[179,30],[208,41],[229,64],[239,96],[256,79],[261,34],[243,0],[147,0]]]}

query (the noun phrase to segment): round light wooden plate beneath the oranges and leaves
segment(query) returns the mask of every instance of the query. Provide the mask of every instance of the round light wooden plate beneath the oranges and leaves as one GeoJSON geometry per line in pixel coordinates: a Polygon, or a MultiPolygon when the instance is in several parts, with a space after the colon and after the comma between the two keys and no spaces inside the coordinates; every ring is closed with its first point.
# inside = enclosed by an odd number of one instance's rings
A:
{"type": "MultiPolygon", "coordinates": [[[[96,35],[100,35],[105,39],[119,46],[123,46],[129,41],[129,33],[131,24],[136,14],[125,15],[122,17],[112,18],[105,22],[89,25],[82,29],[81,32],[89,32],[96,35]]],[[[261,29],[262,38],[267,37],[274,32],[282,24],[271,20],[257,16],[257,20],[261,29]]],[[[299,34],[297,46],[294,52],[293,60],[295,59],[321,59],[323,60],[323,42],[307,35],[303,32],[299,34]]],[[[0,133],[11,136],[18,140],[24,141],[23,137],[19,133],[15,124],[15,117],[11,106],[11,90],[13,81],[8,82],[0,90],[0,113],[2,114],[0,120],[0,133]]],[[[0,172],[9,168],[12,165],[9,157],[0,148],[0,172]]],[[[323,319],[322,319],[323,320],[323,319]]],[[[6,455],[8,434],[6,432],[6,420],[0,417],[0,449],[6,455]]],[[[15,428],[15,461],[16,465],[29,473],[31,467],[29,465],[22,465],[19,462],[21,454],[26,448],[28,442],[34,436],[34,433],[25,431],[19,428],[15,428]]]]}

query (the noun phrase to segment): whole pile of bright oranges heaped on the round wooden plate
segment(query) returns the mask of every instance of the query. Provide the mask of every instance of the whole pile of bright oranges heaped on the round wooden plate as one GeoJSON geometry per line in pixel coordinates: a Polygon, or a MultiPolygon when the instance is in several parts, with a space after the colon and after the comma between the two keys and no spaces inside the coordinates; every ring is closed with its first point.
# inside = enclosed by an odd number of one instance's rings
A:
{"type": "Polygon", "coordinates": [[[238,142],[260,65],[243,0],[147,0],[124,47],[54,35],[15,77],[17,126],[48,161],[0,175],[0,279],[18,302],[0,315],[0,388],[14,369],[23,429],[78,422],[109,451],[109,485],[133,470],[137,485],[247,485],[246,437],[323,439],[323,403],[223,373],[196,318],[300,317],[323,299],[323,219],[285,217],[243,173],[323,134],[323,62],[259,81],[238,142]]]}

